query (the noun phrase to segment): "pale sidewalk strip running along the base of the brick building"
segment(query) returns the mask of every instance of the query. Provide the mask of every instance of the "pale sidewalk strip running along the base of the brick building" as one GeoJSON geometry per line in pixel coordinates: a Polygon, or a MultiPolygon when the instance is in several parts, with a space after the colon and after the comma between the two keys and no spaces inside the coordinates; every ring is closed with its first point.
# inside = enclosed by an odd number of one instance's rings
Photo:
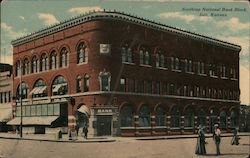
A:
{"type": "MultiPolygon", "coordinates": [[[[250,133],[239,133],[239,136],[250,136],[250,133]]],[[[222,137],[232,137],[232,133],[224,133],[222,137]]],[[[211,138],[212,134],[206,134],[207,138],[211,138]]],[[[94,143],[94,142],[115,142],[125,140],[162,140],[162,139],[188,139],[197,138],[197,135],[169,135],[169,136],[148,136],[148,137],[90,137],[84,139],[82,136],[78,136],[76,140],[69,140],[67,134],[63,134],[61,139],[58,139],[56,134],[23,134],[23,138],[20,135],[13,133],[0,133],[0,139],[19,139],[19,140],[33,140],[33,141],[50,141],[50,142],[70,142],[70,143],[94,143]]]]}

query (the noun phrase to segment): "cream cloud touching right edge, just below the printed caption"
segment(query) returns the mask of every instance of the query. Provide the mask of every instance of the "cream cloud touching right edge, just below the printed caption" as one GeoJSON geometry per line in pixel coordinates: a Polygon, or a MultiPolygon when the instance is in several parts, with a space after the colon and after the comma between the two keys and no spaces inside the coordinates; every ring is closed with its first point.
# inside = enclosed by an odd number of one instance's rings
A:
{"type": "Polygon", "coordinates": [[[243,23],[243,22],[240,22],[240,20],[236,17],[232,17],[231,19],[229,20],[223,20],[223,21],[219,21],[217,22],[217,27],[226,27],[228,28],[230,31],[233,31],[233,32],[238,32],[238,31],[241,31],[241,30],[247,30],[249,29],[250,27],[250,23],[243,23]]]}

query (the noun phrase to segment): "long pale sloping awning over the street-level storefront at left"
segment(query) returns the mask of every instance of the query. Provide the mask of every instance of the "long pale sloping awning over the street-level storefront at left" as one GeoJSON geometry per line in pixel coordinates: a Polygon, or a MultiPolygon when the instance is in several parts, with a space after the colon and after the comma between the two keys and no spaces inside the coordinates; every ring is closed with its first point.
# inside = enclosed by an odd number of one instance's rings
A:
{"type": "MultiPolygon", "coordinates": [[[[59,116],[23,117],[23,125],[51,125],[59,116]]],[[[9,121],[8,125],[20,125],[21,117],[9,121]]]]}

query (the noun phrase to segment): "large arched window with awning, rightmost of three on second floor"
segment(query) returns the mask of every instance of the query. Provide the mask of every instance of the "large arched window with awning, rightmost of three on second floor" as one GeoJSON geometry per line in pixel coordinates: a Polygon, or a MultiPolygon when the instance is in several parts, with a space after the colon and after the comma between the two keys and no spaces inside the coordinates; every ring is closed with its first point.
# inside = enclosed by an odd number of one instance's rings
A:
{"type": "Polygon", "coordinates": [[[52,95],[68,94],[68,82],[62,76],[58,76],[52,83],[52,95]]]}

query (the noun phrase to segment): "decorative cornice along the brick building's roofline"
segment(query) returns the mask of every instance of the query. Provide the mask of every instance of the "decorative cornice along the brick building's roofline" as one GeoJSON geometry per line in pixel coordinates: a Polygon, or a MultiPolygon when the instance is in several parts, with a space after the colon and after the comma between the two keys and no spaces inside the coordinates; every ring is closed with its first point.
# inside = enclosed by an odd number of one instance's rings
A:
{"type": "Polygon", "coordinates": [[[85,23],[88,21],[105,20],[105,19],[107,19],[107,20],[120,20],[120,21],[129,22],[129,23],[134,23],[134,24],[148,27],[148,28],[151,28],[154,30],[173,33],[173,34],[177,34],[179,36],[204,41],[206,43],[210,43],[213,45],[226,47],[226,48],[238,51],[238,52],[241,50],[241,46],[236,45],[236,44],[228,43],[228,42],[225,42],[222,40],[218,40],[218,39],[214,39],[214,38],[211,38],[208,36],[200,35],[198,33],[193,33],[193,32],[179,29],[179,28],[160,24],[160,23],[157,23],[155,21],[144,19],[142,17],[137,17],[134,15],[125,14],[124,12],[117,12],[115,10],[114,11],[105,11],[105,10],[92,11],[92,12],[89,12],[87,14],[82,14],[78,17],[71,18],[71,19],[66,20],[64,22],[61,22],[59,24],[50,26],[48,28],[42,29],[40,31],[31,33],[29,35],[18,38],[16,40],[13,40],[13,41],[11,41],[11,44],[15,47],[15,46],[18,46],[21,44],[25,44],[25,43],[46,37],[48,35],[54,34],[56,32],[59,32],[59,31],[65,30],[65,29],[68,29],[70,27],[77,26],[79,24],[82,24],[82,23],[85,23]]]}

